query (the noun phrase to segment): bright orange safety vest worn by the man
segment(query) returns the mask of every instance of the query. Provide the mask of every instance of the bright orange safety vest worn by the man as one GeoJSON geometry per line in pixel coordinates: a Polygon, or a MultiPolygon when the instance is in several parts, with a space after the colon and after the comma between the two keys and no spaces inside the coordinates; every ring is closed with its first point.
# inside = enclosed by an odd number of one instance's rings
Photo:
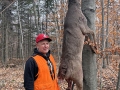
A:
{"type": "Polygon", "coordinates": [[[39,55],[33,57],[38,65],[37,79],[34,81],[34,90],[60,90],[56,76],[56,64],[52,55],[50,61],[54,67],[55,79],[52,80],[47,61],[39,55]]]}

